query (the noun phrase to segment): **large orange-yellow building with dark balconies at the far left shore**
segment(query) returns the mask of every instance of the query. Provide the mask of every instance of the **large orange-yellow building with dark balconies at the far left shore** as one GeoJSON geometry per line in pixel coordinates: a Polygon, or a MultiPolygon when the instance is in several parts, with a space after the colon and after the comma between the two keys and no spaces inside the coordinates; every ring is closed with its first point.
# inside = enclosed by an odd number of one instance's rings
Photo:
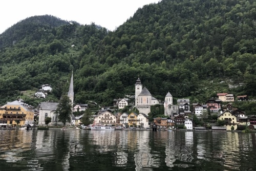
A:
{"type": "Polygon", "coordinates": [[[32,106],[24,102],[17,100],[9,102],[0,108],[0,125],[6,127],[11,124],[12,126],[32,124],[34,113],[32,106]]]}

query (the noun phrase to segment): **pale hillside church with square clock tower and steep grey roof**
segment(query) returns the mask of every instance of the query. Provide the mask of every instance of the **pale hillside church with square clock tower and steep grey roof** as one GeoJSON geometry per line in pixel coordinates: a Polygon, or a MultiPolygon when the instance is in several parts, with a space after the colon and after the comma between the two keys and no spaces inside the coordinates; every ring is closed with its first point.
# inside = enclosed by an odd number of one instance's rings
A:
{"type": "Polygon", "coordinates": [[[135,106],[140,113],[148,115],[151,105],[159,104],[159,101],[154,98],[151,93],[144,87],[138,78],[135,83],[135,106]]]}

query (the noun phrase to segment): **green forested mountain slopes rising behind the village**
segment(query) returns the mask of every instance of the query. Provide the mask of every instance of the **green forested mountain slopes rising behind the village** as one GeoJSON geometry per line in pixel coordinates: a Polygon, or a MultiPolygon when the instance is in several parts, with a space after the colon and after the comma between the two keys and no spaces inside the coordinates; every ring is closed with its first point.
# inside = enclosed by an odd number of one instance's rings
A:
{"type": "Polygon", "coordinates": [[[27,18],[0,35],[1,103],[44,83],[58,100],[72,70],[75,102],[110,105],[134,94],[138,76],[158,99],[168,91],[192,102],[219,92],[253,98],[255,36],[252,0],[162,0],[113,32],[48,15],[27,18]]]}

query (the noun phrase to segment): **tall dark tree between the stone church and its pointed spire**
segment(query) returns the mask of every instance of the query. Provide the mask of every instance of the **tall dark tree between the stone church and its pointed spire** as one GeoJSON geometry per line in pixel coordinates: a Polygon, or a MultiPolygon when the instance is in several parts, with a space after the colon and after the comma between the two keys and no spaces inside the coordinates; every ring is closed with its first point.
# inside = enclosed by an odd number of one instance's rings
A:
{"type": "Polygon", "coordinates": [[[58,114],[58,120],[65,126],[67,122],[71,122],[72,105],[67,95],[62,95],[55,111],[58,114]]]}

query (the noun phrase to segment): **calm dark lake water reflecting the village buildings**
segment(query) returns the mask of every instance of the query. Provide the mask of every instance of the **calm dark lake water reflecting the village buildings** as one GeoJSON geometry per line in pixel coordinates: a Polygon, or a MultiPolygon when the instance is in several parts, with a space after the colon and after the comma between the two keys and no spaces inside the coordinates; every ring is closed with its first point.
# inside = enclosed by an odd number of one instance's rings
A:
{"type": "Polygon", "coordinates": [[[256,133],[0,130],[0,170],[256,170],[256,133]]]}

